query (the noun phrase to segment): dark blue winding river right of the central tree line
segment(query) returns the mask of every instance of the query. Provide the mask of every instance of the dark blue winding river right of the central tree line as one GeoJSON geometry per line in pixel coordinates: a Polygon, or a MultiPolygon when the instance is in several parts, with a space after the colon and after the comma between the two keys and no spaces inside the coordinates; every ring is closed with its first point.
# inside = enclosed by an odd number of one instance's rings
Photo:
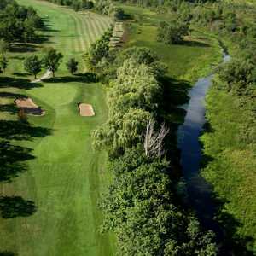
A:
{"type": "MultiPolygon", "coordinates": [[[[223,62],[229,60],[230,55],[223,53],[223,62]]],[[[182,107],[187,113],[183,125],[178,128],[177,139],[189,205],[195,208],[202,224],[220,234],[218,224],[213,221],[215,206],[211,198],[212,188],[200,175],[201,144],[199,137],[206,122],[205,97],[212,84],[212,77],[213,74],[210,74],[199,79],[189,90],[189,103],[182,107]]]]}

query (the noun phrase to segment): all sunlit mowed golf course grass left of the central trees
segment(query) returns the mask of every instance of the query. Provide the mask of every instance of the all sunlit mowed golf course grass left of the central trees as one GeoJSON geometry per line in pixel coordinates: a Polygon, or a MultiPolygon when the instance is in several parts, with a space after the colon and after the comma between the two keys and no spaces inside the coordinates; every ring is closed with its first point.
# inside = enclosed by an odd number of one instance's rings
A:
{"type": "MultiPolygon", "coordinates": [[[[65,60],[70,56],[81,60],[84,50],[100,37],[111,21],[93,14],[88,18],[51,3],[18,2],[32,5],[40,15],[47,16],[51,31],[45,33],[49,42],[37,45],[36,49],[52,45],[65,55],[65,60]]],[[[27,217],[0,217],[0,253],[8,251],[19,256],[113,255],[113,236],[102,236],[98,231],[102,212],[97,204],[110,179],[105,168],[106,154],[94,151],[90,139],[90,132],[108,118],[102,84],[84,83],[79,76],[70,82],[72,79],[63,63],[56,73],[61,76],[60,83],[30,84],[29,89],[22,89],[19,81],[28,86],[26,79],[30,77],[24,76],[21,59],[28,54],[31,53],[9,55],[20,60],[10,58],[6,73],[15,81],[14,85],[5,84],[4,78],[0,78],[0,121],[6,120],[9,124],[9,120],[15,120],[15,125],[19,125],[16,113],[3,108],[13,104],[15,95],[7,97],[5,94],[24,94],[45,109],[45,116],[28,119],[34,131],[39,128],[44,131],[40,135],[32,132],[24,139],[10,140],[12,145],[30,148],[31,159],[20,159],[19,162],[14,154],[10,164],[15,170],[15,165],[21,163],[24,170],[9,183],[0,183],[0,196],[15,195],[24,201],[31,200],[36,212],[27,217]],[[20,80],[13,74],[15,72],[20,73],[20,80]],[[92,104],[96,116],[80,117],[78,102],[92,104]]],[[[84,67],[80,64],[82,72],[84,67]]],[[[15,135],[14,127],[9,128],[11,131],[6,134],[15,135]]],[[[19,126],[16,128],[17,133],[26,133],[19,131],[19,126]]],[[[3,132],[0,140],[4,138],[3,132]]]]}

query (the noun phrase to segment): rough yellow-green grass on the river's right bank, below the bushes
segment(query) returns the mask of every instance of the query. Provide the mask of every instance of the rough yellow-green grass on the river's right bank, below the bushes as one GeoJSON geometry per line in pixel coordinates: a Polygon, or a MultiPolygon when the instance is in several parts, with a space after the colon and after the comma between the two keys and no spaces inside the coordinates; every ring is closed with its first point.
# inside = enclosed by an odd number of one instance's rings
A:
{"type": "Polygon", "coordinates": [[[235,96],[212,88],[207,97],[207,119],[211,127],[201,137],[205,154],[202,173],[213,184],[222,209],[218,219],[229,237],[235,241],[239,237],[255,252],[255,148],[246,143],[243,134],[250,121],[248,113],[235,96]]]}

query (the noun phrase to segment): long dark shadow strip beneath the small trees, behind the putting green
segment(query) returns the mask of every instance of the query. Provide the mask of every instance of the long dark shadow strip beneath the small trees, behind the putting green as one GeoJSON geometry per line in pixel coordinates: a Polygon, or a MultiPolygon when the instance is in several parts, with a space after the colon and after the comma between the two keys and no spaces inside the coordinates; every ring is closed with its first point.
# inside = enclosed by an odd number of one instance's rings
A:
{"type": "Polygon", "coordinates": [[[81,73],[81,74],[76,74],[74,76],[68,76],[68,77],[44,79],[44,83],[72,83],[72,82],[96,83],[98,82],[98,79],[95,73],[84,73],[84,74],[81,73]]]}

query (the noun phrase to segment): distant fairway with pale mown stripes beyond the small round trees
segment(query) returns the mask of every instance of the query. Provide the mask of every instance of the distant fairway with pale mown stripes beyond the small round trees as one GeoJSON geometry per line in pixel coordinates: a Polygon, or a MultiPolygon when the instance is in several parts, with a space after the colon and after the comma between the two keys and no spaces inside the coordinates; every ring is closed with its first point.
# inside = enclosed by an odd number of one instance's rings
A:
{"type": "MultiPolygon", "coordinates": [[[[28,44],[32,52],[28,52],[26,55],[33,54],[34,50],[40,53],[44,47],[48,46],[59,49],[64,55],[64,61],[59,70],[60,74],[66,73],[65,63],[71,57],[76,57],[80,64],[80,71],[83,71],[82,55],[84,51],[89,49],[90,44],[100,38],[112,23],[112,20],[107,16],[90,12],[79,14],[72,9],[54,3],[38,0],[18,0],[17,2],[26,6],[32,5],[47,26],[47,31],[42,32],[47,40],[44,44],[28,44]]],[[[21,63],[26,55],[20,55],[20,52],[9,55],[11,58],[9,73],[24,72],[21,63]]]]}

